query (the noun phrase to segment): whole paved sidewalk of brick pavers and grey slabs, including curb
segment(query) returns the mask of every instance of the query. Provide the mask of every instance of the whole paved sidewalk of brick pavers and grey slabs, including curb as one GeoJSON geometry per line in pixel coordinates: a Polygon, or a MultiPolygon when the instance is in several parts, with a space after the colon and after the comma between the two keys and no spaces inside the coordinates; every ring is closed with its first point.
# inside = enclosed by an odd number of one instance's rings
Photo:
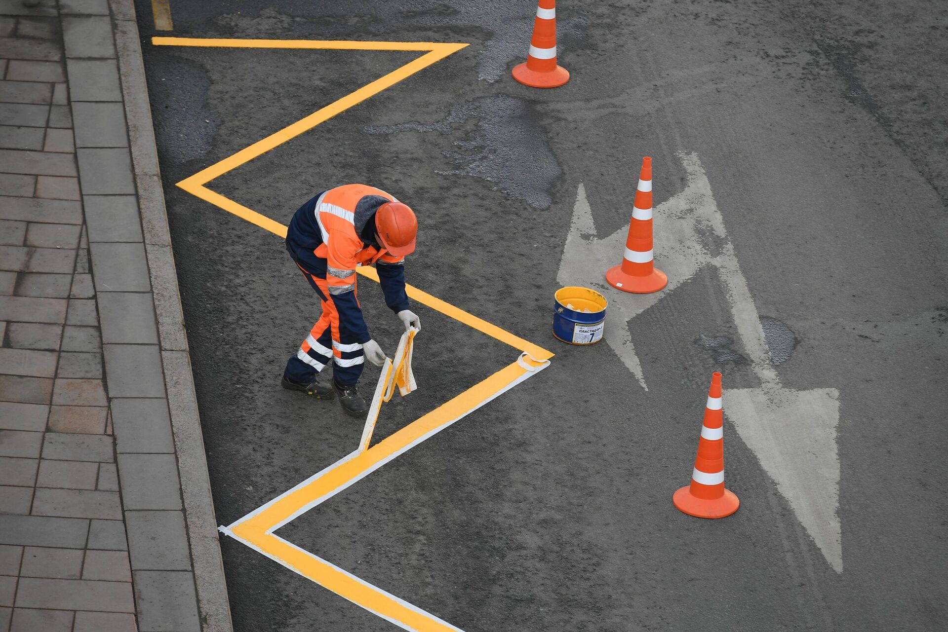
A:
{"type": "Polygon", "coordinates": [[[138,46],[0,0],[0,632],[230,628],[138,46]]]}

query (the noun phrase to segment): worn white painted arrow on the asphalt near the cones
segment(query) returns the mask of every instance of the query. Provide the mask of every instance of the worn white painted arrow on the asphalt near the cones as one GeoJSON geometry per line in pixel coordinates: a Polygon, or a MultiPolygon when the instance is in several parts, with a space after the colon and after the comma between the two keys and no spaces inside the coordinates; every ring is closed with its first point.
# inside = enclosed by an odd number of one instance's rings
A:
{"type": "Polygon", "coordinates": [[[576,193],[573,223],[556,279],[562,285],[594,287],[609,299],[605,338],[647,389],[642,363],[635,352],[629,321],[673,292],[706,265],[718,268],[731,306],[743,351],[750,358],[760,388],[724,391],[724,412],[740,438],[774,479],[797,519],[810,533],[832,569],[843,570],[840,535],[839,392],[835,388],[783,388],[767,352],[757,306],[740,272],[734,246],[727,237],[718,205],[701,162],[682,155],[688,176],[685,189],[655,208],[655,262],[668,275],[665,290],[638,295],[620,292],[606,283],[605,273],[621,257],[628,227],[600,239],[593,211],[582,185],[576,193]],[[717,237],[714,251],[701,236],[717,237]]]}

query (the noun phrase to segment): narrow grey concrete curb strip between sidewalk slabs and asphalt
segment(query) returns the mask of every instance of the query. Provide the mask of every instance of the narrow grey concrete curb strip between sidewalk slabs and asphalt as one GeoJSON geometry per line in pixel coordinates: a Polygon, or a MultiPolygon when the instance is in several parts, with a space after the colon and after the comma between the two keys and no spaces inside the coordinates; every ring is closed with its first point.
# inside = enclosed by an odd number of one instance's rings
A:
{"type": "Polygon", "coordinates": [[[204,632],[232,632],[227,583],[210,495],[191,355],[174,269],[171,234],[158,169],[155,131],[133,0],[110,0],[116,25],[118,71],[132,149],[138,206],[171,409],[191,564],[204,632]]]}

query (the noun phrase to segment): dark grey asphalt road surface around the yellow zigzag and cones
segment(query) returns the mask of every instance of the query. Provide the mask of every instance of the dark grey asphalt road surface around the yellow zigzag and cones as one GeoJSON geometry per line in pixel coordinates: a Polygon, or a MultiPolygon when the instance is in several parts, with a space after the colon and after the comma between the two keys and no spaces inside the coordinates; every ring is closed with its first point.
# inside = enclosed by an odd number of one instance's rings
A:
{"type": "MultiPolygon", "coordinates": [[[[281,223],[329,186],[389,190],[419,214],[410,283],[557,355],[280,534],[467,632],[943,625],[943,3],[563,2],[573,78],[545,91],[509,76],[530,0],[173,2],[170,33],[137,9],[221,523],[348,453],[361,425],[280,388],[319,314],[282,240],[174,185],[419,53],[149,38],[468,43],[209,187],[281,223]],[[685,276],[651,302],[613,297],[629,344],[558,343],[553,294],[601,283],[589,258],[619,261],[603,250],[644,155],[656,216],[693,233],[656,262],[685,276]],[[577,261],[571,226],[590,224],[577,261]],[[715,370],[741,507],[710,521],[671,495],[715,370]]],[[[391,354],[400,324],[374,283],[360,298],[391,354]]],[[[383,409],[380,437],[517,355],[417,311],[420,388],[383,409]]],[[[393,629],[222,546],[239,632],[393,629]]]]}

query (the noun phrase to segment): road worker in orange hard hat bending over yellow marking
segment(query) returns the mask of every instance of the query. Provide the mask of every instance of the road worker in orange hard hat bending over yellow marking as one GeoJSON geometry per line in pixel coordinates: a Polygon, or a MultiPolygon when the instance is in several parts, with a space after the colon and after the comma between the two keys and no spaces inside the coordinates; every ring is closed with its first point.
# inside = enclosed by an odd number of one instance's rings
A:
{"type": "Polygon", "coordinates": [[[325,190],[296,211],[286,232],[286,250],[319,295],[322,315],[283,371],[283,388],[317,399],[337,398],[359,416],[368,405],[356,383],[368,358],[376,366],[385,353],[374,341],[356,298],[356,266],[375,265],[386,304],[404,323],[421,329],[405,293],[405,256],[414,251],[418,220],[391,193],[368,185],[325,190]],[[330,362],[333,377],[317,380],[330,362]]]}

